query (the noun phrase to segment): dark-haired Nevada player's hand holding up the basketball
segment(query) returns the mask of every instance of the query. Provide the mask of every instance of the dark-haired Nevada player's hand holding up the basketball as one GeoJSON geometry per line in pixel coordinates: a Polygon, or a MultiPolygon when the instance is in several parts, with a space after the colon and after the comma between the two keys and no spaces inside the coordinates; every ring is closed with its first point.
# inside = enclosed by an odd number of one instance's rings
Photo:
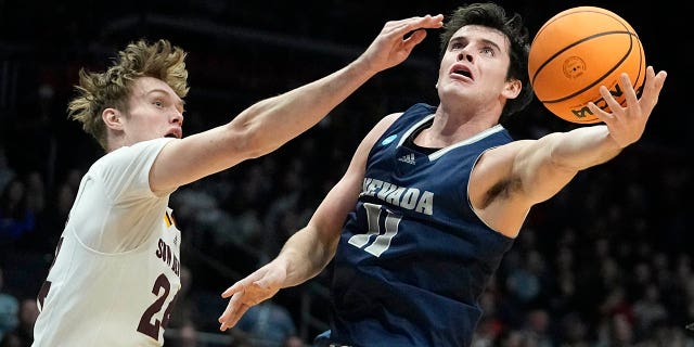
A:
{"type": "Polygon", "coordinates": [[[620,147],[624,149],[637,142],[643,134],[651,112],[658,103],[658,95],[666,77],[666,72],[659,72],[656,75],[653,66],[648,66],[641,99],[638,99],[629,75],[621,74],[619,86],[625,92],[626,106],[621,106],[605,86],[600,87],[600,94],[609,106],[611,113],[601,110],[592,102],[588,103],[590,111],[607,126],[609,136],[620,147]]]}

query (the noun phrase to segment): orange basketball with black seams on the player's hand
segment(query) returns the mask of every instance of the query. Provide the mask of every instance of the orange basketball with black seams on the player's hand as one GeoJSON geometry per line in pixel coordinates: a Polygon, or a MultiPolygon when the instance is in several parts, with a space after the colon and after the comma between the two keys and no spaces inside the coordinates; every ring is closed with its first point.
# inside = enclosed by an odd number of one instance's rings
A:
{"type": "Polygon", "coordinates": [[[528,56],[530,85],[539,101],[576,124],[600,121],[588,108],[590,101],[609,112],[600,86],[626,104],[621,73],[629,75],[640,94],[645,69],[643,47],[631,25],[595,7],[573,8],[551,17],[532,39],[528,56]]]}

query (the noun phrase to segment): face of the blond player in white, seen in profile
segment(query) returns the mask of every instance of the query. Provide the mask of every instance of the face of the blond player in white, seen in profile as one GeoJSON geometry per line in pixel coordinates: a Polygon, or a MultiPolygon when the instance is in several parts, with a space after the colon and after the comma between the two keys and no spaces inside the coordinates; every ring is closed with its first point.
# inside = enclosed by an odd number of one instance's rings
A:
{"type": "Polygon", "coordinates": [[[183,136],[183,101],[163,80],[138,78],[128,105],[130,110],[121,119],[126,144],[183,136]]]}

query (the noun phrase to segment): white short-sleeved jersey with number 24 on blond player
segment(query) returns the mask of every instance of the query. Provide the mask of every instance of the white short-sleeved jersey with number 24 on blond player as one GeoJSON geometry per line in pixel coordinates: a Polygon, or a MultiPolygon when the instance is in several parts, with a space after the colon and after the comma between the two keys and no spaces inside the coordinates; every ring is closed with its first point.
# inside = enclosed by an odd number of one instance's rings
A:
{"type": "Polygon", "coordinates": [[[181,233],[149,172],[171,139],[113,151],[82,178],[48,279],[33,346],[162,346],[181,287],[181,233]]]}

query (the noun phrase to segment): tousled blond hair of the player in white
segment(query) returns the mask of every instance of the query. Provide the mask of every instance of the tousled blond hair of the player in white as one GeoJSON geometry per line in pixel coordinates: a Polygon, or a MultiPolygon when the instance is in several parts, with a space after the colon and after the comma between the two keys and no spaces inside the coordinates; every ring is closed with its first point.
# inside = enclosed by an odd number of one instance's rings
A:
{"type": "Polygon", "coordinates": [[[118,52],[118,60],[104,73],[79,70],[78,95],[67,106],[68,117],[82,124],[82,129],[107,150],[106,125],[101,118],[105,108],[128,112],[128,98],[139,77],[165,81],[179,98],[189,91],[185,55],[182,49],[167,40],[152,44],[145,40],[129,43],[118,52]]]}

